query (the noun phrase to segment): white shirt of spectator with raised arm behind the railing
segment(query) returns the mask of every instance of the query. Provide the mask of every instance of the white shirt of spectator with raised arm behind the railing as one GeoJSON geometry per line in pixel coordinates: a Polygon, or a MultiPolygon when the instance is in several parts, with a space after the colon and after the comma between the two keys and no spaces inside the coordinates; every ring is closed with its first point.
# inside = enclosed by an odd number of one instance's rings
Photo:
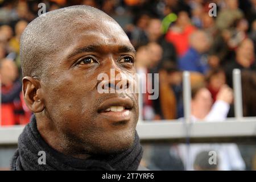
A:
{"type": "MultiPolygon", "coordinates": [[[[203,120],[207,122],[224,121],[228,115],[229,107],[229,104],[224,101],[216,101],[209,114],[203,120]]],[[[191,120],[192,122],[199,121],[199,119],[194,116],[192,116],[191,120]]],[[[245,169],[245,162],[235,143],[179,144],[177,146],[177,152],[187,170],[194,170],[193,163],[195,162],[196,155],[201,151],[215,151],[217,153],[219,162],[217,166],[219,170],[229,171],[245,169]]]]}

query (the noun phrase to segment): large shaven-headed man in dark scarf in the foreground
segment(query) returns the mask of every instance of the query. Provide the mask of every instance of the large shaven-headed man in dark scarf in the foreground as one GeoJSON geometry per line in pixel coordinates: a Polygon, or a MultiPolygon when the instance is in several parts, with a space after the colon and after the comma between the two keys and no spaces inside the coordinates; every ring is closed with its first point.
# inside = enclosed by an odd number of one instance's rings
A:
{"type": "MultiPolygon", "coordinates": [[[[23,96],[34,115],[11,169],[137,170],[138,94],[97,89],[117,84],[115,77],[98,80],[101,73],[135,73],[134,57],[117,22],[90,6],[50,11],[28,24],[20,59],[23,96]]],[[[129,80],[127,88],[133,84],[129,80]]]]}

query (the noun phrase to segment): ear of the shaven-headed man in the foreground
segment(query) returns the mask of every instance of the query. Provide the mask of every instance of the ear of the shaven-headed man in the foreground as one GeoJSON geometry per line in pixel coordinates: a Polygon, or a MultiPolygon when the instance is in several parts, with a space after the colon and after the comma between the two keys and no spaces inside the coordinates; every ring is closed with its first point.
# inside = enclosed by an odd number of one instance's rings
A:
{"type": "Polygon", "coordinates": [[[22,79],[22,93],[28,109],[33,113],[40,113],[44,110],[40,81],[32,77],[22,79]]]}

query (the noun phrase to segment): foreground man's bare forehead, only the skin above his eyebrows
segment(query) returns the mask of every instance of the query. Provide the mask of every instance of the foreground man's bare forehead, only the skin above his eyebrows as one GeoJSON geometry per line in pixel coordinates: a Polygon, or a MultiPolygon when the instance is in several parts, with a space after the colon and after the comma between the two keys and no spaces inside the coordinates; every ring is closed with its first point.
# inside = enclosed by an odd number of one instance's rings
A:
{"type": "MultiPolygon", "coordinates": [[[[68,20],[67,20],[68,21],[68,20]]],[[[71,21],[71,20],[70,20],[71,21]]],[[[129,38],[112,19],[88,19],[88,17],[74,17],[72,22],[55,23],[48,28],[48,34],[44,34],[46,42],[54,42],[56,46],[67,46],[86,39],[88,44],[97,40],[110,44],[112,42],[130,42],[129,38]],[[53,41],[52,41],[53,40],[53,41]]]]}

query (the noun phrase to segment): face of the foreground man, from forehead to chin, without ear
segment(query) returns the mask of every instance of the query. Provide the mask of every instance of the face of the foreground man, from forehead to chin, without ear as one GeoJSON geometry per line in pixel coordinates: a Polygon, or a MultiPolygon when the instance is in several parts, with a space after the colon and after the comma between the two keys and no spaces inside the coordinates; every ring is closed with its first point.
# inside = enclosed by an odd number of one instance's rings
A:
{"type": "MultiPolygon", "coordinates": [[[[81,151],[106,154],[126,150],[134,142],[138,95],[99,93],[98,84],[109,85],[113,79],[108,82],[97,77],[106,73],[110,78],[110,69],[115,76],[135,73],[133,46],[110,21],[82,22],[68,36],[71,39],[60,46],[46,71],[48,77],[42,80],[47,117],[56,132],[81,151]],[[109,108],[120,111],[106,111],[109,108]]],[[[129,80],[128,85],[133,84],[135,80],[129,80]]]]}

